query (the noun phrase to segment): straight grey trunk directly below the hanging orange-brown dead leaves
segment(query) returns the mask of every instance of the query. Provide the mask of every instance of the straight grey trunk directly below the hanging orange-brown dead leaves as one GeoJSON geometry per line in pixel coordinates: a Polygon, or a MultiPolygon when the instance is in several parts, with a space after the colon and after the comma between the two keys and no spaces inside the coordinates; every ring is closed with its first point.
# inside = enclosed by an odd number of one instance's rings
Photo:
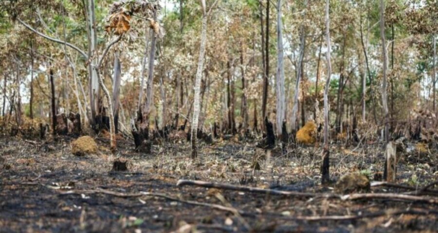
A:
{"type": "Polygon", "coordinates": [[[112,106],[114,114],[114,132],[119,133],[119,102],[120,102],[120,83],[122,81],[122,67],[120,63],[120,52],[114,53],[114,72],[112,86],[112,106]]]}

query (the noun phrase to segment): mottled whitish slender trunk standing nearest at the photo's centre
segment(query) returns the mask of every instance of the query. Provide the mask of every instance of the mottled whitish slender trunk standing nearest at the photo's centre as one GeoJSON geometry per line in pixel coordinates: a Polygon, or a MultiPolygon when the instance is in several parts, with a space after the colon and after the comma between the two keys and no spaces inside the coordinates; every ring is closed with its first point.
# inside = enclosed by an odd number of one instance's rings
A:
{"type": "Polygon", "coordinates": [[[192,118],[192,126],[191,126],[191,137],[190,141],[192,144],[192,159],[198,156],[197,149],[197,136],[198,136],[198,121],[199,121],[199,112],[200,112],[200,94],[201,94],[201,79],[202,79],[202,70],[204,66],[204,55],[205,55],[205,44],[207,43],[207,13],[205,7],[205,0],[201,0],[202,4],[202,31],[201,31],[201,47],[199,49],[199,60],[198,60],[198,69],[196,70],[196,79],[195,79],[195,96],[194,96],[194,108],[193,108],[193,118],[192,118]]]}

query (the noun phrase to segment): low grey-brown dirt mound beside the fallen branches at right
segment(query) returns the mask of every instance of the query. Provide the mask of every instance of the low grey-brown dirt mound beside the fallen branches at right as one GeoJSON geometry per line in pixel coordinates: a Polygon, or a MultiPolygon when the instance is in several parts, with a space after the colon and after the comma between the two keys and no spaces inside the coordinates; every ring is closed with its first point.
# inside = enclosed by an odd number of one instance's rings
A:
{"type": "Polygon", "coordinates": [[[351,193],[369,191],[370,183],[368,177],[359,173],[348,173],[339,179],[335,185],[337,193],[351,193]]]}

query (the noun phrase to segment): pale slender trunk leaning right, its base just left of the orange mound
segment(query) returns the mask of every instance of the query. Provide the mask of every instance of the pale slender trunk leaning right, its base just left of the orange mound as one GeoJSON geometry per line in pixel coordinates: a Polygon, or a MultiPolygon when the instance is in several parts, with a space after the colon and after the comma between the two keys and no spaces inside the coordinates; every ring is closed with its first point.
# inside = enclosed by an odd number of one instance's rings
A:
{"type": "Polygon", "coordinates": [[[296,124],[296,118],[297,118],[297,112],[298,112],[298,94],[300,92],[300,83],[301,83],[301,66],[303,65],[303,59],[304,59],[304,49],[306,46],[306,32],[305,32],[305,22],[304,20],[306,20],[306,12],[307,12],[307,5],[308,5],[308,1],[305,0],[304,1],[304,5],[306,6],[304,9],[304,13],[303,13],[303,22],[300,26],[300,50],[299,50],[299,54],[300,57],[298,59],[298,66],[296,67],[296,81],[295,81],[295,92],[293,94],[293,107],[292,107],[292,115],[291,115],[291,128],[292,128],[292,132],[296,132],[297,129],[297,124],[296,124]]]}

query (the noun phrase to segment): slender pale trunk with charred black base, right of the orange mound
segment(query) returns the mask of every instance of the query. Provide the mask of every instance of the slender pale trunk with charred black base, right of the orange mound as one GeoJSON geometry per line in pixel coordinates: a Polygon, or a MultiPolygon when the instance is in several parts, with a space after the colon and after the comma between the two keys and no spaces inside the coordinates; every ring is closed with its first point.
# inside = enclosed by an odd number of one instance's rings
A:
{"type": "Polygon", "coordinates": [[[330,61],[330,17],[329,17],[329,0],[326,0],[326,43],[327,43],[327,80],[326,86],[324,87],[324,151],[323,151],[323,162],[321,166],[321,183],[329,183],[330,173],[329,173],[329,85],[331,76],[331,61],[330,61]]]}

